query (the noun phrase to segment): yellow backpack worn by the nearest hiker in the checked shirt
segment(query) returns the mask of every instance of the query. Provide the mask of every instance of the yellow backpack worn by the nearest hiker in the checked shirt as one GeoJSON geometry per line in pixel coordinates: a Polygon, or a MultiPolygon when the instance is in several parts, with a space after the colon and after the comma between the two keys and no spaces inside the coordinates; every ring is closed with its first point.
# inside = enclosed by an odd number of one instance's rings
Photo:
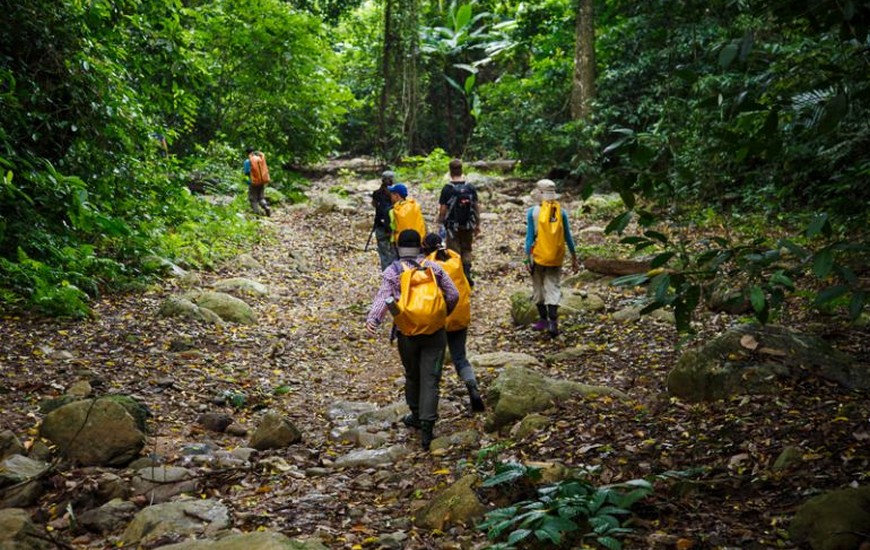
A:
{"type": "Polygon", "coordinates": [[[431,266],[409,267],[399,279],[399,314],[393,317],[396,327],[405,336],[432,334],[444,328],[447,320],[447,302],[431,266]]]}

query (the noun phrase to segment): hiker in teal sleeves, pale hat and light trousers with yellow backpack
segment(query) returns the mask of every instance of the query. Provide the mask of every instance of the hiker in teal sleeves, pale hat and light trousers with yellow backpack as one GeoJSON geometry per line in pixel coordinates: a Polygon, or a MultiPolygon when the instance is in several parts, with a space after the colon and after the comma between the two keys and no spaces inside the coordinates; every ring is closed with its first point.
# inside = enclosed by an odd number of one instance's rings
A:
{"type": "Polygon", "coordinates": [[[532,274],[532,301],[540,319],[533,329],[559,335],[559,302],[562,300],[562,262],[565,247],[571,252],[571,268],[580,269],[568,214],[556,200],[556,184],[543,179],[535,184],[540,204],[526,212],[526,264],[532,274]]]}

